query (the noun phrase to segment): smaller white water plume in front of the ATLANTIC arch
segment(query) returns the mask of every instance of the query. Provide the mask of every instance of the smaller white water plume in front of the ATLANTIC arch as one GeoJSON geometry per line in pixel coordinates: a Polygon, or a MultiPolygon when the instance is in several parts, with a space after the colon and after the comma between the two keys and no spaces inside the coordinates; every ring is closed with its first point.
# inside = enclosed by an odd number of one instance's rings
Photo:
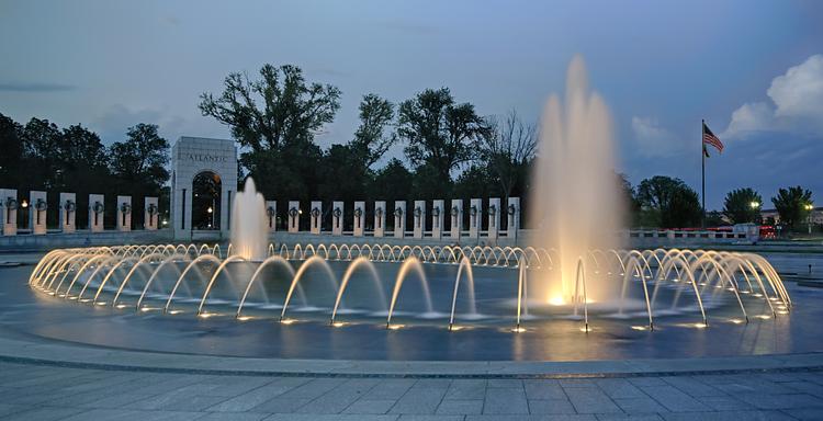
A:
{"type": "Polygon", "coordinates": [[[255,262],[266,259],[269,228],[266,223],[266,200],[257,192],[255,180],[246,179],[243,192],[232,204],[232,247],[234,253],[255,262]]]}

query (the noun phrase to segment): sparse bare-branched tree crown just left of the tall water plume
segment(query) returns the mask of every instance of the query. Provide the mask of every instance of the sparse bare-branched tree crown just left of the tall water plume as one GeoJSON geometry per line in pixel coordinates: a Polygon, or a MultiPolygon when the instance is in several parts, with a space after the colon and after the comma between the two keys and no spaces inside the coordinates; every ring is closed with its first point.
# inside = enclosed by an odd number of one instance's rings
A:
{"type": "Polygon", "coordinates": [[[495,175],[501,196],[508,198],[529,178],[538,148],[534,126],[523,124],[511,110],[503,122],[489,121],[489,129],[480,139],[480,160],[495,175]]]}

